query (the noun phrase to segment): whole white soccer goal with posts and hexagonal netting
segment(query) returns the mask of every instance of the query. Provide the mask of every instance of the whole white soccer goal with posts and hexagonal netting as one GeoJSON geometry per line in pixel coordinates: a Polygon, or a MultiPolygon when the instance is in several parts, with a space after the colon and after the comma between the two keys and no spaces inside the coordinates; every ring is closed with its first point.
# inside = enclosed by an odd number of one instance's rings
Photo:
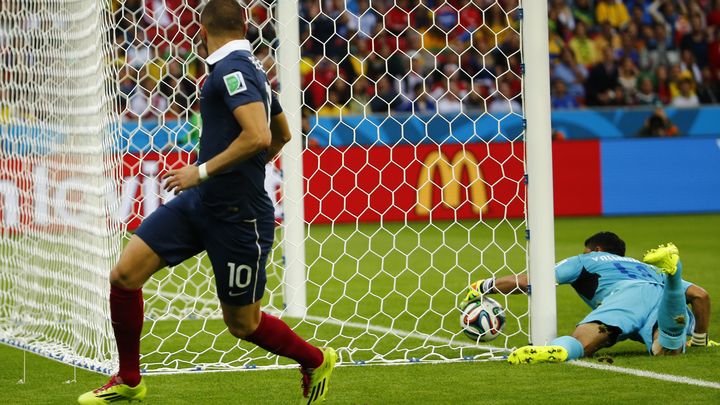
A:
{"type": "MultiPolygon", "coordinates": [[[[195,159],[200,0],[0,8],[0,343],[116,366],[108,272],[195,159]]],[[[498,359],[555,334],[547,5],[249,1],[294,134],[267,168],[264,310],[344,364],[498,359]],[[460,327],[496,297],[491,342],[460,327]]],[[[203,255],[144,287],[145,373],[294,366],[230,336],[203,255]]]]}

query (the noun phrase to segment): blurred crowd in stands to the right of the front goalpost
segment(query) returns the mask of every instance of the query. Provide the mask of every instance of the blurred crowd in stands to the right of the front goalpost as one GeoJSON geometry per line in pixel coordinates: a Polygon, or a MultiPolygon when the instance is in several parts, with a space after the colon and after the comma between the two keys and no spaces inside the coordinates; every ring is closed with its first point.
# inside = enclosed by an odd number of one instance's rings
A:
{"type": "Polygon", "coordinates": [[[720,1],[552,0],[553,106],[718,102],[720,1]]]}

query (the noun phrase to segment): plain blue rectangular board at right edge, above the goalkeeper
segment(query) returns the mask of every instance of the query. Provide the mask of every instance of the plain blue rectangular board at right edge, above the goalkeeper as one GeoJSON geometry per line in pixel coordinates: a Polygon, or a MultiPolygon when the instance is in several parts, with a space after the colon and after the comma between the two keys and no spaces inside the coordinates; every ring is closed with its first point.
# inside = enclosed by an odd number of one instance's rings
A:
{"type": "Polygon", "coordinates": [[[720,211],[720,139],[600,143],[604,215],[720,211]]]}

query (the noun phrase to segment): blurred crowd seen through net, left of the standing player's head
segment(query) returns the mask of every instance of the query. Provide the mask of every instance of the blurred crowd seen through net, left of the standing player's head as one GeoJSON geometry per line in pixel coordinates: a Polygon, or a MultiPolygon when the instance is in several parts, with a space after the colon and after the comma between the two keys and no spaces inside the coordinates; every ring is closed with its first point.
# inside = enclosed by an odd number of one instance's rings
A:
{"type": "Polygon", "coordinates": [[[114,0],[118,110],[127,119],[187,119],[205,74],[194,54],[199,0],[114,0]]]}

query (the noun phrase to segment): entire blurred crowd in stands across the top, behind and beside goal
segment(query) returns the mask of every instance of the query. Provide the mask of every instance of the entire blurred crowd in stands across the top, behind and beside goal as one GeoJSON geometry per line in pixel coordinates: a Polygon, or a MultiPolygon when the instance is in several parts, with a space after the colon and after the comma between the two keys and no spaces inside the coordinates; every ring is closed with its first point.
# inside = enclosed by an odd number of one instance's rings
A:
{"type": "MultiPolygon", "coordinates": [[[[128,119],[197,111],[200,3],[116,0],[118,105],[128,119]]],[[[271,2],[250,3],[247,36],[277,87],[271,2]]],[[[305,116],[520,114],[518,7],[300,0],[305,116]]],[[[720,0],[550,0],[548,11],[554,108],[718,102],[720,0]]]]}

